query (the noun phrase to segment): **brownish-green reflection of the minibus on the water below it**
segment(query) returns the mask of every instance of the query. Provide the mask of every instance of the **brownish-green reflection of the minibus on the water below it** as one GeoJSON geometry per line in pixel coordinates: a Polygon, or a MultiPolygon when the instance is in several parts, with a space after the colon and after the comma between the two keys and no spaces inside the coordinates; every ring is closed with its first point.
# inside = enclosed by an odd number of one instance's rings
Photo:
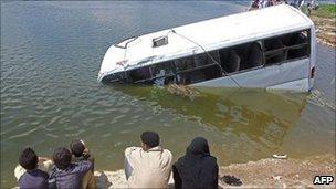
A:
{"type": "Polygon", "coordinates": [[[258,132],[267,125],[285,128],[297,120],[305,105],[305,94],[284,95],[263,90],[195,88],[198,91],[197,95],[188,98],[170,94],[166,88],[151,86],[114,88],[219,129],[253,128],[251,130],[258,132]]]}

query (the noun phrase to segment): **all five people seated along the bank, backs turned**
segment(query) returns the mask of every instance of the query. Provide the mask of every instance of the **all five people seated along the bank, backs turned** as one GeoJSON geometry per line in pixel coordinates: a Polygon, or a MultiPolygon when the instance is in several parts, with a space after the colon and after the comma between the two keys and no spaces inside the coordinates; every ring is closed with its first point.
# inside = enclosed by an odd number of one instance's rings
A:
{"type": "MultiPolygon", "coordinates": [[[[175,188],[218,188],[218,165],[203,137],[196,137],[186,155],[172,164],[172,155],[159,146],[159,135],[145,132],[140,147],[125,150],[124,170],[128,188],[168,188],[172,172],[175,188]]],[[[15,177],[19,188],[96,188],[94,158],[83,140],[70,148],[59,147],[52,159],[38,157],[30,147],[23,149],[15,177]]]]}

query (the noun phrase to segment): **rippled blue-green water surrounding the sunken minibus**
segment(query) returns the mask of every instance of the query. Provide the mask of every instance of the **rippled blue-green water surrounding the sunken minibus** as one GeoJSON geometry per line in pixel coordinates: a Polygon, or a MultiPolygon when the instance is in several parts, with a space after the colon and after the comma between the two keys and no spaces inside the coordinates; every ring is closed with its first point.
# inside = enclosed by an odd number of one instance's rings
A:
{"type": "Polygon", "coordinates": [[[191,97],[96,82],[122,39],[241,12],[242,2],[1,2],[1,188],[17,185],[20,151],[51,156],[83,138],[96,169],[123,166],[123,150],[156,130],[175,159],[195,136],[220,165],[285,153],[335,154],[335,51],[317,48],[311,95],[212,88],[191,97]]]}

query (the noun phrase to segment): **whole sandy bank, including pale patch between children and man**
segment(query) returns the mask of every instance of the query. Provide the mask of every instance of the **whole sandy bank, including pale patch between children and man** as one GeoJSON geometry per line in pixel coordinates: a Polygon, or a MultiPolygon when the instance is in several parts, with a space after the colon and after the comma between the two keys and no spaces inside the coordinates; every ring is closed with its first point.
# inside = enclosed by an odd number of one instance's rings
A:
{"type": "MultiPolygon", "coordinates": [[[[297,159],[262,159],[246,164],[234,164],[220,168],[219,186],[221,188],[335,188],[314,186],[315,176],[336,176],[335,156],[325,155],[297,159]],[[230,179],[233,176],[237,179],[230,179]],[[228,185],[227,182],[230,182],[228,185]],[[232,186],[232,185],[240,185],[232,186]]],[[[125,188],[127,182],[123,170],[95,171],[98,188],[125,188]]],[[[170,178],[170,188],[174,187],[170,178]]]]}

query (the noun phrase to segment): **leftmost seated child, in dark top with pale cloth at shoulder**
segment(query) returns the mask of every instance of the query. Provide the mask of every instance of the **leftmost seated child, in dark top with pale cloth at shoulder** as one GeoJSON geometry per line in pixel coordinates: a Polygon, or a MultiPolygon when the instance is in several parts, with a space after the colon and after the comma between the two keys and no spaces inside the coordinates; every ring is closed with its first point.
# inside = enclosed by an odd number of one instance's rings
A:
{"type": "Polygon", "coordinates": [[[32,148],[23,149],[19,158],[20,166],[15,168],[19,188],[48,188],[49,175],[38,168],[38,162],[39,157],[32,148]]]}

